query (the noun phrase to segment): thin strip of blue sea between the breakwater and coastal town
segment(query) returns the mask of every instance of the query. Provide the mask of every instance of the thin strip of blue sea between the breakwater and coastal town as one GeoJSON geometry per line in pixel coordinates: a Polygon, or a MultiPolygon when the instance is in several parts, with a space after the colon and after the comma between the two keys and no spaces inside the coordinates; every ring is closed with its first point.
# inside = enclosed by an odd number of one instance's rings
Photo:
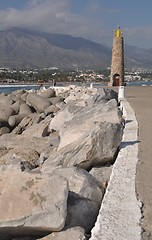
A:
{"type": "MultiPolygon", "coordinates": [[[[102,83],[102,84],[99,84],[99,83],[91,83],[91,84],[59,84],[58,87],[60,86],[68,86],[68,85],[76,85],[76,86],[86,86],[86,87],[89,87],[89,86],[92,86],[92,87],[106,87],[107,86],[107,83],[102,83]]],[[[152,87],[152,81],[137,81],[137,82],[127,82],[126,86],[151,86],[152,87]]],[[[45,88],[49,88],[50,85],[45,85],[45,88]]],[[[3,85],[0,85],[0,93],[11,93],[11,92],[14,92],[16,90],[21,90],[21,89],[25,89],[25,90],[38,90],[39,89],[39,85],[38,84],[21,84],[21,85],[17,85],[17,84],[3,84],[3,85]]]]}

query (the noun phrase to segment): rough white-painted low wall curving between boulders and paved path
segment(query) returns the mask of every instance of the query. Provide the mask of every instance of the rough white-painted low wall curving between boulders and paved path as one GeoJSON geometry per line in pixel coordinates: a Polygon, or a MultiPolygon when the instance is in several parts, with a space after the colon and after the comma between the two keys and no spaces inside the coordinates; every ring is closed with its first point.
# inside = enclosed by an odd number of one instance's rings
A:
{"type": "Polygon", "coordinates": [[[90,240],[141,239],[141,203],[135,190],[138,123],[126,100],[121,108],[126,121],[123,140],[90,240]]]}

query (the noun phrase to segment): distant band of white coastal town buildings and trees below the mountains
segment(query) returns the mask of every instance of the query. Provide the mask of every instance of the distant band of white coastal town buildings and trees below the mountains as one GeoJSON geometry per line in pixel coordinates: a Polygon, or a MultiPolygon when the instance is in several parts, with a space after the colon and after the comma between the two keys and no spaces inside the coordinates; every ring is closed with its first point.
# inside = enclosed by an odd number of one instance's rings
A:
{"type": "MultiPolygon", "coordinates": [[[[100,83],[105,84],[110,81],[111,68],[104,70],[77,70],[77,71],[62,71],[61,69],[11,69],[0,68],[0,84],[9,83],[31,83],[40,80],[52,82],[56,79],[57,82],[82,82],[82,83],[100,83]]],[[[139,67],[125,67],[124,82],[134,81],[152,81],[152,69],[139,67]]]]}

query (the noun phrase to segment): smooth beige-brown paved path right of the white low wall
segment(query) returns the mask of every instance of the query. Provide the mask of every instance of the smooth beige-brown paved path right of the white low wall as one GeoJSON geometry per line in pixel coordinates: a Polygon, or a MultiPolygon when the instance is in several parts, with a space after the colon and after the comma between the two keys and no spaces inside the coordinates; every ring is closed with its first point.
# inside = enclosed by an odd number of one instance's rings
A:
{"type": "Polygon", "coordinates": [[[143,203],[142,239],[152,240],[152,87],[125,88],[125,98],[134,109],[139,124],[139,155],[136,192],[143,203]]]}

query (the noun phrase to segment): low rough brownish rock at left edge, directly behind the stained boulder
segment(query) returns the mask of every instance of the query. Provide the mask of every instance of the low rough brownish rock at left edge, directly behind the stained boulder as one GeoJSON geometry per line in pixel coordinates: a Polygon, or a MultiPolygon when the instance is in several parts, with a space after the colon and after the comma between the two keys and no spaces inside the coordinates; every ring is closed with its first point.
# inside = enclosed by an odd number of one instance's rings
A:
{"type": "Polygon", "coordinates": [[[46,159],[45,156],[48,157],[51,151],[53,151],[55,146],[51,146],[52,141],[51,136],[32,137],[30,136],[30,132],[25,135],[24,133],[19,135],[14,133],[3,134],[0,146],[2,148],[5,146],[7,151],[0,155],[0,162],[14,164],[14,160],[19,159],[18,162],[29,161],[31,164],[39,165],[38,160],[41,154],[43,153],[46,159]],[[37,154],[33,154],[33,151],[37,152],[37,154]]]}

